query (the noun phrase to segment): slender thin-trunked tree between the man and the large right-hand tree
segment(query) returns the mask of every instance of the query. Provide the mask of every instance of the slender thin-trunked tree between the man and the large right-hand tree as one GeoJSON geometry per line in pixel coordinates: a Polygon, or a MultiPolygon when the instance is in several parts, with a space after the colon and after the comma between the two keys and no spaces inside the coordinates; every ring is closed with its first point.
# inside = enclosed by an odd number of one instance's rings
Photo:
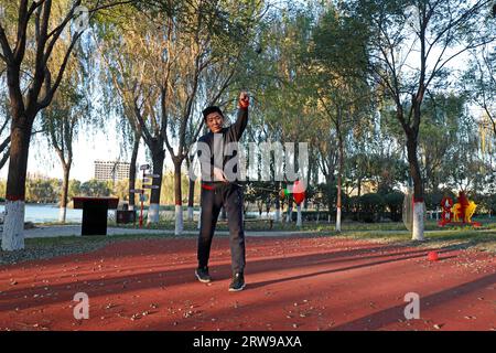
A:
{"type": "Polygon", "coordinates": [[[337,140],[336,231],[341,232],[345,142],[354,125],[370,113],[364,39],[354,33],[359,24],[331,8],[313,32],[309,74],[313,77],[316,109],[337,140]]]}

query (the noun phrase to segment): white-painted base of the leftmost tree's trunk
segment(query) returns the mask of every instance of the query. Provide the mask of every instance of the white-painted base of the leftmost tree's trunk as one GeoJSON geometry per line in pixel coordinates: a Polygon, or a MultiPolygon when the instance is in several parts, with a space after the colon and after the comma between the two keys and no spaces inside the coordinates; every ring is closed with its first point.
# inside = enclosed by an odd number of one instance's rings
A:
{"type": "Polygon", "coordinates": [[[24,248],[24,201],[6,200],[2,249],[6,252],[24,248]]]}

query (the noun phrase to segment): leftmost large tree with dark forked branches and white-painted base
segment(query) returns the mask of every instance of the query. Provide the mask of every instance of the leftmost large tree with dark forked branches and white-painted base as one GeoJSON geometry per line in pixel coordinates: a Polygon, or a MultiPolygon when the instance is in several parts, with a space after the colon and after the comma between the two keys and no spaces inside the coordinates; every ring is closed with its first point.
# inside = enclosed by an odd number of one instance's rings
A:
{"type": "MultiPolygon", "coordinates": [[[[61,85],[68,58],[86,28],[90,14],[122,1],[20,0],[2,1],[0,23],[0,60],[7,67],[7,85],[12,116],[9,172],[6,191],[6,220],[2,248],[15,250],[24,247],[24,199],[28,156],[34,119],[46,108],[61,85]],[[62,61],[54,67],[55,46],[67,34],[74,18],[83,15],[73,25],[69,45],[62,61]]],[[[129,1],[125,1],[129,2],[129,1]]]]}

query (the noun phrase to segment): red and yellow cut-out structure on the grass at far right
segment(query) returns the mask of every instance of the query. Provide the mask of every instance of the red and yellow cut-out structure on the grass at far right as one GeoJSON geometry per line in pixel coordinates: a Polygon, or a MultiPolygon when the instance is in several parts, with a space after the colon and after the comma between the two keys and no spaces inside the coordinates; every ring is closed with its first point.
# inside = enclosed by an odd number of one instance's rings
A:
{"type": "Polygon", "coordinates": [[[453,200],[449,196],[443,197],[441,201],[441,207],[443,208],[441,213],[441,221],[438,225],[443,227],[446,224],[468,224],[474,227],[479,227],[482,224],[479,222],[472,222],[472,216],[475,213],[477,205],[473,201],[468,201],[463,191],[459,192],[459,202],[453,203],[453,200]]]}

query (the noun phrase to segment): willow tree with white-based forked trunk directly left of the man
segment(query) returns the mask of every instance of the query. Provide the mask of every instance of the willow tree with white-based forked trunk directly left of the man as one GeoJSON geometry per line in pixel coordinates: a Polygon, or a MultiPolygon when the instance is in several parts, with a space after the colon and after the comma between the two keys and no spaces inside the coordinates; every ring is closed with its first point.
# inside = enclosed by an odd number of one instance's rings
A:
{"type": "Polygon", "coordinates": [[[228,93],[234,77],[245,72],[240,57],[262,12],[263,1],[197,0],[184,8],[175,25],[168,22],[170,34],[174,34],[173,51],[181,63],[173,77],[184,83],[174,90],[161,86],[162,119],[171,130],[165,146],[174,164],[175,234],[183,231],[182,164],[202,129],[198,119],[194,119],[195,113],[203,121],[197,114],[202,107],[217,104],[228,93]]]}

